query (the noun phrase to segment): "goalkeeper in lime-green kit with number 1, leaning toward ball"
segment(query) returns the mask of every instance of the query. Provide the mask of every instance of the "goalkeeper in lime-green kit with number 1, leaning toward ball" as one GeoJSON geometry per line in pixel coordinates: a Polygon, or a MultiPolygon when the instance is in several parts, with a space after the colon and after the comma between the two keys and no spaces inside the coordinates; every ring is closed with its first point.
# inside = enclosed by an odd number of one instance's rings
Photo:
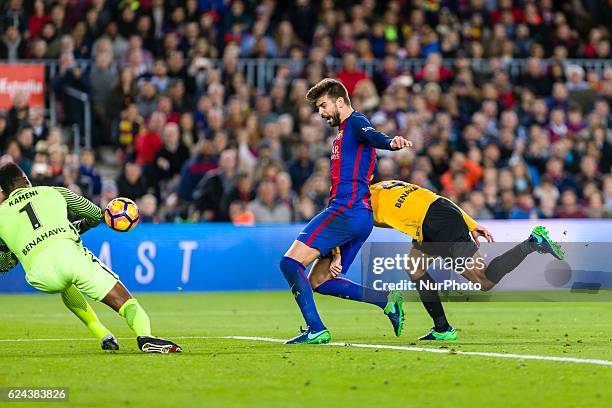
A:
{"type": "Polygon", "coordinates": [[[81,292],[101,301],[125,318],[136,333],[138,348],[173,353],[181,347],[151,336],[149,316],[110,269],[81,242],[80,233],[97,226],[102,210],[64,187],[32,187],[19,166],[0,167],[0,272],[21,262],[30,285],[60,293],[64,304],[101,341],[102,349],[118,350],[113,334],[100,322],[81,292]],[[74,224],[68,210],[81,217],[74,224]]]}

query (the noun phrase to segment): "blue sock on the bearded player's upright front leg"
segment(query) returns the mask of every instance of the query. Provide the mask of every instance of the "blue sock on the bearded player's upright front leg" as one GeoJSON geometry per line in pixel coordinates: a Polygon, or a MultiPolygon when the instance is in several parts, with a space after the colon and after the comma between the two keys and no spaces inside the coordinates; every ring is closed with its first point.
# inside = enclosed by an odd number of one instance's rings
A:
{"type": "Polygon", "coordinates": [[[319,312],[317,312],[317,306],[314,303],[312,287],[304,273],[304,265],[295,259],[283,256],[280,268],[310,330],[313,332],[325,330],[319,312]]]}

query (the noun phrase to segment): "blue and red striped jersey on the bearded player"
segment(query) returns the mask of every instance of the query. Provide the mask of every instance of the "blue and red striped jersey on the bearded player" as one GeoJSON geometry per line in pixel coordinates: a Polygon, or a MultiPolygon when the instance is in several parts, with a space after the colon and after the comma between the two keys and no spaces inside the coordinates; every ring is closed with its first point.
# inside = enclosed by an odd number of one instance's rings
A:
{"type": "Polygon", "coordinates": [[[394,150],[391,140],[361,112],[353,111],[340,124],[330,158],[330,207],[372,209],[369,186],[377,171],[376,149],[394,150]]]}

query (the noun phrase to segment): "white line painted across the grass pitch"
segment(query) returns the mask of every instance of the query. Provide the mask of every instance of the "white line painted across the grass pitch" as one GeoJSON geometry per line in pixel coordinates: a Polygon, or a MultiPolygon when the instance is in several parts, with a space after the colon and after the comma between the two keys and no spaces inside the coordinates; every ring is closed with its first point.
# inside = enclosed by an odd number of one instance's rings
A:
{"type": "MultiPolygon", "coordinates": [[[[228,340],[246,340],[246,341],[265,341],[268,343],[284,343],[283,339],[275,339],[272,337],[249,337],[249,336],[175,336],[172,337],[177,340],[212,340],[212,339],[228,339],[228,340]]],[[[0,339],[0,343],[20,343],[20,342],[46,342],[46,341],[96,341],[93,338],[49,338],[49,339],[0,339]]],[[[133,340],[132,337],[119,337],[118,340],[133,340]]],[[[324,344],[324,346],[331,347],[354,347],[354,348],[365,348],[365,349],[378,349],[378,350],[401,350],[401,351],[415,351],[421,353],[437,353],[437,354],[457,354],[463,356],[480,356],[480,357],[497,357],[497,358],[510,358],[515,360],[540,360],[540,361],[555,361],[561,363],[577,363],[577,364],[595,364],[602,366],[612,366],[610,360],[599,360],[592,358],[576,358],[576,357],[558,357],[558,356],[541,356],[537,354],[510,354],[510,353],[490,353],[485,351],[461,351],[451,349],[434,349],[427,347],[408,347],[408,346],[395,346],[391,344],[363,344],[363,343],[338,343],[331,342],[324,344]]]]}

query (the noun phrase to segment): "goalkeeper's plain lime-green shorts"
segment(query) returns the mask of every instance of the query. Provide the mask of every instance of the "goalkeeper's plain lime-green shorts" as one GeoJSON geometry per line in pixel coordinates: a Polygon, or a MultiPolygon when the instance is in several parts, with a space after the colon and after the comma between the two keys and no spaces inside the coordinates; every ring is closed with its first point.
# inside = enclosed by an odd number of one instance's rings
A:
{"type": "Polygon", "coordinates": [[[63,292],[75,285],[90,298],[100,301],[119,278],[82,244],[58,239],[36,254],[26,270],[26,280],[47,293],[63,292]]]}

